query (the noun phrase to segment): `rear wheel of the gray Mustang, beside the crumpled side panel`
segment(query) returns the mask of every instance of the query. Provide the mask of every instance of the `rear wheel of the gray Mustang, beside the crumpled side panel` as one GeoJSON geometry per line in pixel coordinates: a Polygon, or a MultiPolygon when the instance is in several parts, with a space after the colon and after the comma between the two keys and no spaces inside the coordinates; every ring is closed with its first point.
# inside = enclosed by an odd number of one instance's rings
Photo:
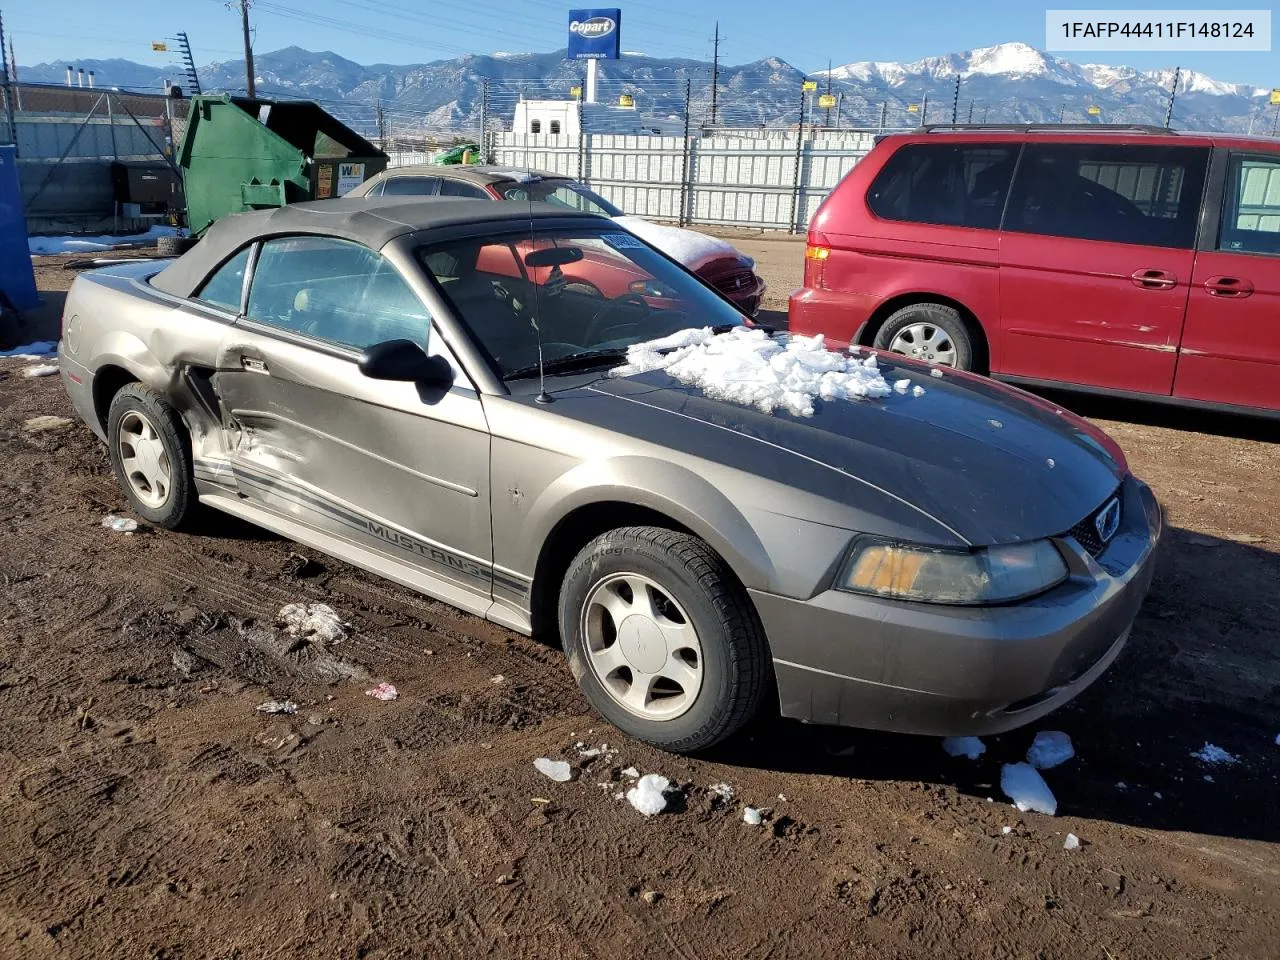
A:
{"type": "Polygon", "coordinates": [[[182,417],[142,384],[123,387],[106,416],[111,470],[133,512],[174,530],[197,508],[191,443],[182,417]]]}

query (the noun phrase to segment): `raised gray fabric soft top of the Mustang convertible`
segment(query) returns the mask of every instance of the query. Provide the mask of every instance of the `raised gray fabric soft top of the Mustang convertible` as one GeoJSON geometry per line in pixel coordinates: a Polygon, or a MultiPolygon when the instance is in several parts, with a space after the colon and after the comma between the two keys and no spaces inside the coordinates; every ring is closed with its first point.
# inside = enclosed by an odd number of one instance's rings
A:
{"type": "MultiPolygon", "coordinates": [[[[246,243],[265,237],[310,233],[338,237],[381,250],[407,233],[465,224],[566,218],[605,218],[553,204],[494,202],[463,197],[352,197],[289,204],[234,214],[218,220],[189,251],[151,278],[151,285],[175,297],[191,297],[205,278],[246,243]]],[[[621,229],[621,228],[620,228],[621,229]]]]}

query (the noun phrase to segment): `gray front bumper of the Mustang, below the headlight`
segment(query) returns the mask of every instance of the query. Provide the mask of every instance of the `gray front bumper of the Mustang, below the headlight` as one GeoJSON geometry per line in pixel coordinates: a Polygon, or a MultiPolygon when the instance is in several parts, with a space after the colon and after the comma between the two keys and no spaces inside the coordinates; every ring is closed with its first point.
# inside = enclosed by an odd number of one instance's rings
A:
{"type": "Polygon", "coordinates": [[[751,591],[786,717],[933,736],[1001,733],[1097,680],[1129,637],[1151,585],[1160,504],[1121,486],[1124,520],[1097,558],[1059,540],[1070,577],[1005,607],[904,603],[828,590],[809,600],[751,591]]]}

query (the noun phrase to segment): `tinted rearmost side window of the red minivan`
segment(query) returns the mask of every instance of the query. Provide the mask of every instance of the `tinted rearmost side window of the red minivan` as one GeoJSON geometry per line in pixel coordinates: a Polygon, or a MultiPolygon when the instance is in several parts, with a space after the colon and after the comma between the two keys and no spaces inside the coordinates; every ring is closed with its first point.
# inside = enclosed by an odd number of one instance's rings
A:
{"type": "Polygon", "coordinates": [[[1000,227],[1016,146],[992,143],[909,143],[893,154],[867,193],[886,220],[1000,227]]]}

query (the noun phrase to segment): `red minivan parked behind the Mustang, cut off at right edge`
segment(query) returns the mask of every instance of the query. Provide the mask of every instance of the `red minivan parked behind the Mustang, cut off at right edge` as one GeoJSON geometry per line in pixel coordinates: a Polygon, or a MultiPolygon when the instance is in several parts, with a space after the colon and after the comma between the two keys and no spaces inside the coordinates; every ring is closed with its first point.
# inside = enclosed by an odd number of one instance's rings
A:
{"type": "Polygon", "coordinates": [[[887,136],[814,214],[790,329],[1028,385],[1280,413],[1280,142],[887,136]]]}

